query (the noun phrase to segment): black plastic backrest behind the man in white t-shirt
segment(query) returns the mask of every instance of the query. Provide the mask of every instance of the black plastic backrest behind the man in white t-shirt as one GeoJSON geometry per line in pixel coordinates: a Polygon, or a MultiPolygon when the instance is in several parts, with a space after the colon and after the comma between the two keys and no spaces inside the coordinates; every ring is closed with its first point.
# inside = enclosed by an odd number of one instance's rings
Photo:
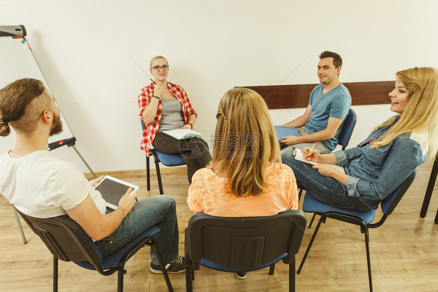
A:
{"type": "Polygon", "coordinates": [[[94,266],[102,262],[91,238],[70,217],[35,218],[19,210],[17,212],[57,258],[64,261],[90,261],[94,266]]]}

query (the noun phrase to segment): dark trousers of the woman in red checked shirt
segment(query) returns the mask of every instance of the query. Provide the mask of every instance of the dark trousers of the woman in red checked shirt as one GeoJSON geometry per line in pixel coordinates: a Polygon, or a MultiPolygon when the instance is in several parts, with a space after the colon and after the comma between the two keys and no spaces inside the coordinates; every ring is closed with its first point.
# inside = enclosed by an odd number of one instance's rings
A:
{"type": "Polygon", "coordinates": [[[200,137],[175,139],[165,133],[157,133],[152,143],[153,147],[162,153],[179,154],[187,165],[188,183],[198,169],[204,168],[211,161],[208,144],[200,137]]]}

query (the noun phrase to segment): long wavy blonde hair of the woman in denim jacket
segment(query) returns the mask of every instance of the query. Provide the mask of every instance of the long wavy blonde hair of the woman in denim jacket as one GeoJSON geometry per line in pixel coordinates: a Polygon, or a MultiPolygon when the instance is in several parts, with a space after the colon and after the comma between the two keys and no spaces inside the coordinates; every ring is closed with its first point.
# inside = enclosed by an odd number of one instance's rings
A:
{"type": "MultiPolygon", "coordinates": [[[[400,120],[370,148],[388,145],[404,133],[425,131],[429,136],[429,159],[434,159],[438,146],[438,70],[415,67],[398,71],[395,75],[408,92],[406,107],[400,120]]],[[[395,118],[393,116],[377,129],[391,125],[395,118]]]]}

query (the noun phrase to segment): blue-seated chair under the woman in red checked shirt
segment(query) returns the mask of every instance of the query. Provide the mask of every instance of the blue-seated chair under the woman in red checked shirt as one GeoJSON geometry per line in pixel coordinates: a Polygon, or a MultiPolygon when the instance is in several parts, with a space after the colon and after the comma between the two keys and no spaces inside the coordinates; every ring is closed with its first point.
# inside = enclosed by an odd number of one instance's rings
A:
{"type": "MultiPolygon", "coordinates": [[[[142,130],[145,128],[145,124],[142,122],[142,130]]],[[[158,188],[160,194],[163,194],[163,186],[161,182],[161,173],[160,173],[160,165],[162,164],[166,166],[180,166],[185,165],[184,159],[178,154],[166,154],[161,153],[153,148],[149,150],[149,153],[154,157],[155,162],[155,170],[157,172],[158,179],[158,188]]],[[[151,190],[151,179],[150,179],[150,165],[149,165],[149,156],[146,155],[146,182],[147,182],[147,190],[151,190]]]]}

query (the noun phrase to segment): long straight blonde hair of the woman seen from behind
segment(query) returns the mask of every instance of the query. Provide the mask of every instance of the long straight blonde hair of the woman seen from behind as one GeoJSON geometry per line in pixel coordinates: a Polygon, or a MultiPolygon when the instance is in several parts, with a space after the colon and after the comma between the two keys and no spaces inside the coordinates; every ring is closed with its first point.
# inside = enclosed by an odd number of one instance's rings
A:
{"type": "MultiPolygon", "coordinates": [[[[208,167],[227,173],[231,192],[260,195],[270,162],[281,163],[280,146],[263,98],[253,90],[227,91],[216,114],[213,158],[208,167]]],[[[277,170],[277,163],[273,163],[277,170]]]]}

